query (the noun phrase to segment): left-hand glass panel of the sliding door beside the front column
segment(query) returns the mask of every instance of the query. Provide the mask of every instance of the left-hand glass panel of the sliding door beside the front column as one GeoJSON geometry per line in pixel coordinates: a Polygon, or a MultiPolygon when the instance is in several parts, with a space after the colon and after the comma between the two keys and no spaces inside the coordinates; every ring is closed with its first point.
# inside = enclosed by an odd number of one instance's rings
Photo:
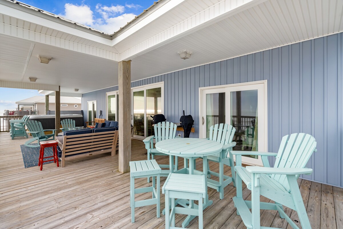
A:
{"type": "Polygon", "coordinates": [[[133,92],[133,126],[134,134],[144,137],[144,90],[133,92]]]}

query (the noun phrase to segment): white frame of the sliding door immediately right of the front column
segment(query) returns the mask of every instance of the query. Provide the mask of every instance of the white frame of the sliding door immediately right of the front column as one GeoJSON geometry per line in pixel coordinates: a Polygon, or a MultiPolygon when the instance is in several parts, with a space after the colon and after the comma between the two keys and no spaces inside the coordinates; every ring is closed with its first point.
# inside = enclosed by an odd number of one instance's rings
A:
{"type": "Polygon", "coordinates": [[[151,83],[146,84],[139,87],[134,87],[131,89],[131,124],[133,126],[133,92],[135,91],[144,91],[144,136],[139,135],[133,135],[134,138],[137,139],[144,139],[148,136],[146,135],[146,90],[152,89],[152,88],[159,88],[161,87],[161,112],[164,114],[164,82],[158,82],[158,83],[151,83]]]}

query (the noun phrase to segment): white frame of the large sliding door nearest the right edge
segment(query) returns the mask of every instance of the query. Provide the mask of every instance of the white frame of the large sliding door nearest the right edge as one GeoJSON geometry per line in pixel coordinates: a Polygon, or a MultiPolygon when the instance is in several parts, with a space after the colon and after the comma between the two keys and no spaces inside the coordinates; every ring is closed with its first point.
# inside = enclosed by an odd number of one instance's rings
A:
{"type": "MultiPolygon", "coordinates": [[[[267,90],[267,80],[261,81],[254,81],[254,82],[247,82],[247,83],[235,83],[235,84],[227,84],[227,85],[218,85],[213,87],[202,87],[199,88],[199,137],[205,138],[206,137],[206,125],[202,124],[202,114],[206,114],[206,101],[203,101],[203,96],[208,93],[221,93],[226,92],[225,95],[225,116],[226,118],[230,117],[230,92],[232,91],[245,91],[245,90],[258,90],[259,96],[259,103],[258,103],[258,112],[259,112],[259,151],[268,152],[268,90],[267,90]],[[261,90],[262,89],[262,90],[261,90]],[[263,101],[261,104],[260,101],[263,101]],[[261,107],[264,106],[264,109],[261,107]],[[264,130],[261,129],[264,127],[264,130]],[[260,134],[262,133],[262,134],[260,134]],[[261,138],[262,137],[262,138],[261,138]]],[[[230,122],[228,122],[230,123],[230,122]]],[[[235,157],[234,157],[235,159],[235,157]]],[[[261,157],[258,160],[248,157],[242,157],[245,164],[252,164],[252,165],[262,165],[261,157]]]]}

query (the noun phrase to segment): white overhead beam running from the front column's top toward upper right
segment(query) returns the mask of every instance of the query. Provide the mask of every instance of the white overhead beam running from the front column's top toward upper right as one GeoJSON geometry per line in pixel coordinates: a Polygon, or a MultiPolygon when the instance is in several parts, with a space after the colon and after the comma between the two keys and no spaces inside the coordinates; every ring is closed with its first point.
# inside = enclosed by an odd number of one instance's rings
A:
{"type": "Polygon", "coordinates": [[[222,0],[209,8],[190,16],[188,19],[166,29],[165,31],[146,39],[120,54],[120,61],[130,60],[134,57],[140,56],[153,49],[161,47],[167,43],[173,42],[181,37],[198,31],[206,26],[219,22],[229,16],[240,13],[244,10],[250,9],[267,0],[250,0],[250,1],[236,1],[236,0],[222,0]],[[237,4],[236,4],[237,3],[237,4]],[[236,5],[235,5],[236,4],[236,5]]]}

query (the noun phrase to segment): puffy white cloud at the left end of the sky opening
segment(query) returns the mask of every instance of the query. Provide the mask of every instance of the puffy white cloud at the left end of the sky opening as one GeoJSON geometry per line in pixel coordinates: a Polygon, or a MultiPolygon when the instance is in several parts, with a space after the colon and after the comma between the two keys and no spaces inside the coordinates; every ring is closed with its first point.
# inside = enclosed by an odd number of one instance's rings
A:
{"type": "Polygon", "coordinates": [[[69,20],[85,24],[93,24],[93,11],[88,5],[74,5],[72,3],[66,3],[64,5],[64,18],[69,20]]]}

